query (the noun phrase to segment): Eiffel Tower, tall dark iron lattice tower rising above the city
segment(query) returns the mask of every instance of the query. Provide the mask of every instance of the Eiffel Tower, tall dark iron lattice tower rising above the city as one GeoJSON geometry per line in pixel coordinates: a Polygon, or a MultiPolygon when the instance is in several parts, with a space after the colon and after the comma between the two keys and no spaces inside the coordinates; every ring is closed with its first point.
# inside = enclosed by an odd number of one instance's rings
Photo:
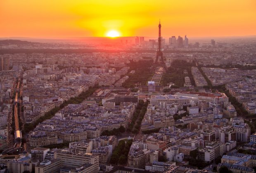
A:
{"type": "Polygon", "coordinates": [[[157,52],[156,52],[156,59],[154,61],[153,67],[154,69],[163,67],[164,70],[167,70],[166,64],[164,62],[164,55],[162,52],[162,37],[161,37],[161,23],[159,20],[158,25],[159,31],[158,31],[158,46],[157,46],[157,52]]]}

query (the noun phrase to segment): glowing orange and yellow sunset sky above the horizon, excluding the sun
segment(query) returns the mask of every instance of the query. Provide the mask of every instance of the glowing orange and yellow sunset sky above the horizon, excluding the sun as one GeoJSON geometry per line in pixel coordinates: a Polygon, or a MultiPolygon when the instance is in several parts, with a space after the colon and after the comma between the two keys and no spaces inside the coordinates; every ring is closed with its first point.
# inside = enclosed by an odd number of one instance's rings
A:
{"type": "Polygon", "coordinates": [[[0,37],[256,35],[256,0],[0,0],[0,37]]]}

